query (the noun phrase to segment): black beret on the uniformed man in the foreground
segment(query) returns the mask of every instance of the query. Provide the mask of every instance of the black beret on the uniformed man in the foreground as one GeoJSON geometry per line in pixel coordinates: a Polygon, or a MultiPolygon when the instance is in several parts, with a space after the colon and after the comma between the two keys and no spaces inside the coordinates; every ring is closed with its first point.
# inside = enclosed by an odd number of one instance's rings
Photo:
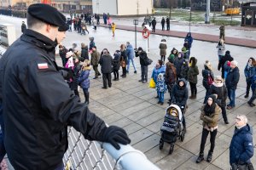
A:
{"type": "Polygon", "coordinates": [[[66,17],[48,4],[32,4],[28,7],[27,13],[52,26],[64,26],[66,24],[66,20],[64,20],[66,17]]]}

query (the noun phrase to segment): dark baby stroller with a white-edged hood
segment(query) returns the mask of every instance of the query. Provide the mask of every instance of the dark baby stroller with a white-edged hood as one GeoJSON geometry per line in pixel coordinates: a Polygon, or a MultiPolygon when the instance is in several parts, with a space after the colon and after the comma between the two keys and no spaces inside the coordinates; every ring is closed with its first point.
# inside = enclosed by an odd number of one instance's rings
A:
{"type": "Polygon", "coordinates": [[[177,139],[183,142],[185,133],[182,130],[182,110],[178,105],[170,105],[166,109],[165,121],[161,126],[160,150],[164,143],[171,144],[169,154],[172,154],[177,139]]]}

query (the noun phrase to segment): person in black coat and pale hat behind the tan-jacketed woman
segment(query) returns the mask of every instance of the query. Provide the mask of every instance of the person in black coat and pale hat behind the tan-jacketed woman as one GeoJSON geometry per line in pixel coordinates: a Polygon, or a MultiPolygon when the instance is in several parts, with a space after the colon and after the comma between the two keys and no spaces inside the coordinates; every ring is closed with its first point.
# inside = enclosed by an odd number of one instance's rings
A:
{"type": "Polygon", "coordinates": [[[225,124],[229,124],[230,122],[228,121],[228,117],[226,114],[226,99],[228,97],[228,90],[221,76],[217,76],[214,78],[214,82],[209,89],[209,94],[217,94],[216,103],[221,108],[222,117],[225,124]]]}

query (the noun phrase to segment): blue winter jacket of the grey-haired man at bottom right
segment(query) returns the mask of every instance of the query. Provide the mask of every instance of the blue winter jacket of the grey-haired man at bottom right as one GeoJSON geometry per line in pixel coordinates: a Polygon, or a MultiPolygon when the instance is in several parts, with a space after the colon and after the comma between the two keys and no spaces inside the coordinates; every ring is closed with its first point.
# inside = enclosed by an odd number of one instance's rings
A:
{"type": "Polygon", "coordinates": [[[253,157],[253,129],[247,124],[240,129],[235,128],[230,143],[230,165],[250,162],[251,157],[253,157]]]}

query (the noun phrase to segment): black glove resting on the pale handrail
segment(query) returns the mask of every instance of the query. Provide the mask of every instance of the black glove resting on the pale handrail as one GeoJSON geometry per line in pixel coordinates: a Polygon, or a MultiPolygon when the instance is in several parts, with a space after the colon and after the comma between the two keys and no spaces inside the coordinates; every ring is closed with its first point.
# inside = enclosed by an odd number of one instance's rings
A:
{"type": "Polygon", "coordinates": [[[129,139],[125,130],[121,127],[110,126],[107,127],[103,133],[103,142],[108,142],[113,145],[117,150],[120,149],[120,144],[130,144],[131,139],[129,139]]]}

